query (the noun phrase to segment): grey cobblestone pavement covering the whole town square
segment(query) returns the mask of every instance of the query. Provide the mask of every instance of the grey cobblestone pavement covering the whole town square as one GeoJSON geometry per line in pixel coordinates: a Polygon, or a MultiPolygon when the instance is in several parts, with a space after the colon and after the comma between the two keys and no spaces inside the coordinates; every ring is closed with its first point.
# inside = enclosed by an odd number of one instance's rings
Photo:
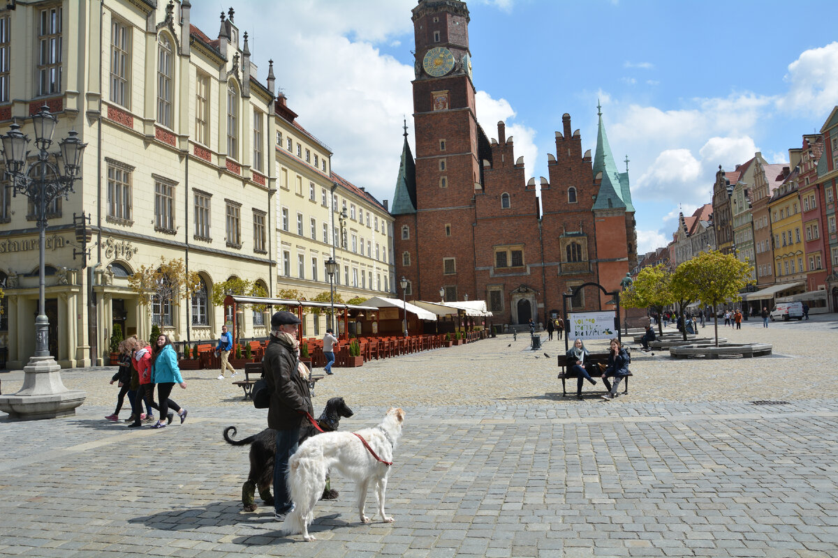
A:
{"type": "MultiPolygon", "coordinates": [[[[311,543],[280,535],[272,508],[241,513],[246,448],[220,433],[256,433],[266,412],[229,378],[187,371],[184,425],[136,431],[102,418],[112,368],[63,371],[88,392],[75,417],[0,413],[0,555],[838,556],[836,330],[822,316],[720,328],[773,343],[754,359],[635,351],[629,395],[613,402],[601,384],[561,397],[563,342],[525,351],[526,336],[338,369],[314,402],[343,396],[356,412],[344,429],[406,410],[387,490],[396,523],[361,525],[353,487],[334,478],[341,495],[318,503],[311,543]]],[[[3,392],[22,377],[0,374],[3,392]]]]}

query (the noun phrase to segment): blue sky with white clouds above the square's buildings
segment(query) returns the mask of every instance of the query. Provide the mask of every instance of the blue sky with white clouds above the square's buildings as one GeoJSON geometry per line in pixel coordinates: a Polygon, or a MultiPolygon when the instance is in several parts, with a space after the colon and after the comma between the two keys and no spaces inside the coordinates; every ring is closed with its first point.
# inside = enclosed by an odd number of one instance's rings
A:
{"type": "MultiPolygon", "coordinates": [[[[595,150],[597,103],[614,157],[629,158],[638,250],[670,242],[678,213],[711,202],[721,165],[760,151],[789,161],[838,105],[838,3],[750,0],[469,0],[476,111],[504,120],[527,178],[547,177],[561,116],[595,150]]],[[[265,83],[333,152],[332,169],[392,202],[402,122],[413,144],[416,0],[247,0],[232,4],[265,83]]],[[[218,36],[227,3],[192,3],[218,36]],[[212,5],[215,8],[209,8],[212,5]]],[[[415,154],[415,149],[414,149],[415,154]]],[[[620,163],[623,170],[625,163],[620,163]]],[[[523,187],[523,185],[522,185],[523,187]]]]}

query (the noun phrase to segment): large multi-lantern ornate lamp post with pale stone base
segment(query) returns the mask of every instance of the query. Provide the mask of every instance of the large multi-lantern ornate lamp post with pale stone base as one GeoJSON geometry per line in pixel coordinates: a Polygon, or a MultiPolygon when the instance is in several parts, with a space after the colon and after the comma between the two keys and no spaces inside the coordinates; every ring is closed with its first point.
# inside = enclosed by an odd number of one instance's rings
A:
{"type": "Polygon", "coordinates": [[[35,354],[23,368],[23,388],[13,396],[0,397],[0,410],[16,418],[53,418],[75,414],[85,400],[85,392],[70,392],[61,381],[61,367],[49,354],[49,320],[44,309],[44,244],[47,228],[47,208],[59,197],[70,199],[73,183],[81,178],[81,156],[86,144],[78,134],[70,131],[59,142],[55,161],[49,161],[47,150],[53,144],[53,133],[58,119],[44,105],[32,116],[35,130],[37,161],[26,165],[29,151],[28,136],[14,123],[11,130],[0,137],[3,142],[5,178],[13,196],[23,194],[34,206],[39,233],[38,317],[35,318],[35,354]]]}

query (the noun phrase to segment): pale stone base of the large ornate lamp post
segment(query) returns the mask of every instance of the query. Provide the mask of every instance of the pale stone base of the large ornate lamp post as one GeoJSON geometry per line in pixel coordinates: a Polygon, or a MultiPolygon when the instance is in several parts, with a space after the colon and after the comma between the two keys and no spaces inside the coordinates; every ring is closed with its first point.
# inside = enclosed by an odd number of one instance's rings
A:
{"type": "Polygon", "coordinates": [[[61,381],[61,367],[52,356],[33,356],[23,367],[23,387],[0,396],[0,411],[17,420],[39,420],[75,415],[86,392],[68,390],[61,381]]]}

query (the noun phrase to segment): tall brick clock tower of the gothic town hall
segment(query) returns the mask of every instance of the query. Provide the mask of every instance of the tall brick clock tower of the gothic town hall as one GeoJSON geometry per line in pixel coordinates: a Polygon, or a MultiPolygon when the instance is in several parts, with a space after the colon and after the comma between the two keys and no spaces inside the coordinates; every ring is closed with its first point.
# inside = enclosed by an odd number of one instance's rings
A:
{"type": "Polygon", "coordinates": [[[442,288],[449,300],[465,294],[482,299],[474,292],[473,197],[480,165],[468,8],[458,0],[423,0],[412,19],[416,186],[414,207],[398,195],[394,200],[396,266],[410,282],[408,298],[439,299],[442,288]]]}

